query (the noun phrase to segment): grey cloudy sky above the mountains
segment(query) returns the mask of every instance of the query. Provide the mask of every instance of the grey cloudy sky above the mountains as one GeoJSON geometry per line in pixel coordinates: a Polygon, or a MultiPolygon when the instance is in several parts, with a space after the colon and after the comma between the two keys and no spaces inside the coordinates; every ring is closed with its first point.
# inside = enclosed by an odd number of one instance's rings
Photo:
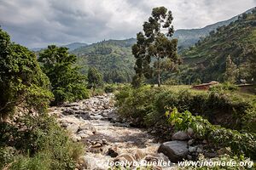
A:
{"type": "Polygon", "coordinates": [[[174,28],[201,28],[256,6],[256,0],[0,0],[0,26],[28,48],[136,37],[154,7],[174,28]]]}

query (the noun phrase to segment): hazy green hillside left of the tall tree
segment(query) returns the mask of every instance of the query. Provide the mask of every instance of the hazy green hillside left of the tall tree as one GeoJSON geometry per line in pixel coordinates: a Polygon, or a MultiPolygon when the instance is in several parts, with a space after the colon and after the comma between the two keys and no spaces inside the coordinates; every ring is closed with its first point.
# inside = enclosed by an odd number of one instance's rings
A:
{"type": "Polygon", "coordinates": [[[72,51],[78,55],[78,65],[86,73],[90,66],[102,72],[105,82],[131,82],[134,75],[134,57],[131,45],[136,39],[97,42],[72,51]]]}

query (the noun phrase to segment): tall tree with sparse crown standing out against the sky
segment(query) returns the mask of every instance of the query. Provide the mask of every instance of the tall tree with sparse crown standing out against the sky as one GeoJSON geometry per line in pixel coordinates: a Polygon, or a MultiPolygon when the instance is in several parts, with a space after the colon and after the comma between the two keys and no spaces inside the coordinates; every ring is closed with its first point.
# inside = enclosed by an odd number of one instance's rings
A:
{"type": "Polygon", "coordinates": [[[132,46],[132,54],[136,58],[136,78],[151,78],[157,76],[160,87],[162,59],[171,59],[173,63],[178,61],[177,39],[170,39],[174,32],[172,26],[172,12],[165,7],[153,8],[152,16],[143,24],[143,31],[137,33],[137,43],[132,46]],[[152,59],[154,58],[154,59],[152,59]],[[154,65],[150,65],[151,60],[154,65]]]}

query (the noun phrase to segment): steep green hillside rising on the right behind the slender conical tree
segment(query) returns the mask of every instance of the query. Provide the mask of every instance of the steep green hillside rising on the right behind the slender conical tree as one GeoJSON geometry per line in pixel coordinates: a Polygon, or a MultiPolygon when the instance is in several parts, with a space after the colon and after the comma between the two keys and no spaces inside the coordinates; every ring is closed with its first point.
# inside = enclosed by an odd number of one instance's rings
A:
{"type": "Polygon", "coordinates": [[[177,79],[183,83],[216,80],[224,82],[226,58],[230,55],[236,64],[236,82],[250,82],[255,77],[256,10],[243,14],[229,26],[218,27],[210,36],[183,52],[183,64],[177,79]],[[254,70],[254,71],[253,71],[254,70]]]}

